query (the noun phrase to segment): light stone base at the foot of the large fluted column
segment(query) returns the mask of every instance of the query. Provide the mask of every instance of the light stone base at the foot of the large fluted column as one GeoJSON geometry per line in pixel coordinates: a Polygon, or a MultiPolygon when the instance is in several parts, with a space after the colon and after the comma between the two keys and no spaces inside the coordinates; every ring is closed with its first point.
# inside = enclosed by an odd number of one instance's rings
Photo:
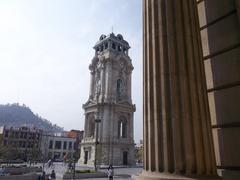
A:
{"type": "Polygon", "coordinates": [[[203,177],[203,176],[196,176],[196,177],[188,177],[183,175],[177,174],[170,174],[170,173],[155,173],[155,172],[146,172],[142,171],[139,175],[132,176],[135,180],[221,180],[220,177],[203,177]]]}

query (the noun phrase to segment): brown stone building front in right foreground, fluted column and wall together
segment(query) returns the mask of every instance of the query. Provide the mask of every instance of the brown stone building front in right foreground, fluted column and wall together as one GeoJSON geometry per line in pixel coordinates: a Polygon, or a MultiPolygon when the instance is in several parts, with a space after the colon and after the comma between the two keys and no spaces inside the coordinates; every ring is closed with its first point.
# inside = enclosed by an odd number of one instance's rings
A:
{"type": "Polygon", "coordinates": [[[143,0],[143,44],[137,179],[240,179],[240,1],[143,0]]]}

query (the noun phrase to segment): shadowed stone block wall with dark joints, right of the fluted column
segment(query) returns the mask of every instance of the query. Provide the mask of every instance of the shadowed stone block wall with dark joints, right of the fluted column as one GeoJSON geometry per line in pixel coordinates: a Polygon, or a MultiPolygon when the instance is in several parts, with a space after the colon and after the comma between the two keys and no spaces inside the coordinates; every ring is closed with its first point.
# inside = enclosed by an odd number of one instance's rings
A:
{"type": "Polygon", "coordinates": [[[199,0],[198,12],[217,168],[240,176],[239,2],[199,0]]]}

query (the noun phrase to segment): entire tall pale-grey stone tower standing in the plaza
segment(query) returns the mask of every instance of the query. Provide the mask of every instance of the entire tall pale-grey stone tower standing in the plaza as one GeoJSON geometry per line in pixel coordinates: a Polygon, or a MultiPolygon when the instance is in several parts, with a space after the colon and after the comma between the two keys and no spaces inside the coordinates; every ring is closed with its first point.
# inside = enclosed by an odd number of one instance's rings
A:
{"type": "Polygon", "coordinates": [[[123,36],[101,35],[89,66],[91,86],[85,110],[81,165],[133,165],[133,65],[123,36]]]}

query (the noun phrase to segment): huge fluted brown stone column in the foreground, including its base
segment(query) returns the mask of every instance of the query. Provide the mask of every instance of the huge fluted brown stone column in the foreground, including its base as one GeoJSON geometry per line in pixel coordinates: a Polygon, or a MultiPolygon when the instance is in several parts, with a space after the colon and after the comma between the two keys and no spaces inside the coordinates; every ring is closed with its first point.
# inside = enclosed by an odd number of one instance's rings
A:
{"type": "Polygon", "coordinates": [[[215,179],[196,0],[144,0],[144,171],[215,179]]]}

